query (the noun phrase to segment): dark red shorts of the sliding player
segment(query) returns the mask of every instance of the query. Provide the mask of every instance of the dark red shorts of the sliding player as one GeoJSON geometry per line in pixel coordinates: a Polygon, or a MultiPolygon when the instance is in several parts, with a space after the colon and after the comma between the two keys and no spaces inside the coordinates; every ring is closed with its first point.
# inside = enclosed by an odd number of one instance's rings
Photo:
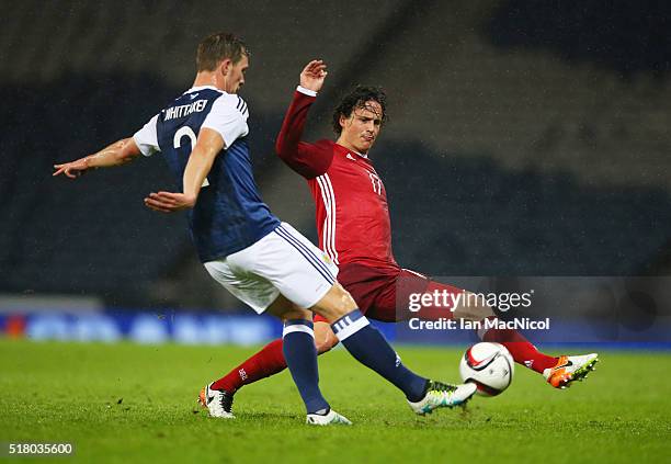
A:
{"type": "MultiPolygon", "coordinates": [[[[398,306],[398,303],[407,303],[411,293],[433,292],[434,290],[446,290],[451,293],[462,292],[460,288],[433,282],[428,276],[407,269],[373,268],[357,263],[341,265],[338,271],[338,282],[350,292],[359,309],[367,318],[383,322],[398,322],[414,316],[408,312],[407,305],[398,306]]],[[[444,307],[435,309],[435,314],[432,315],[431,308],[422,308],[422,318],[437,319],[450,317],[452,314],[444,307]]],[[[327,321],[319,315],[315,315],[314,320],[315,322],[327,321]]]]}

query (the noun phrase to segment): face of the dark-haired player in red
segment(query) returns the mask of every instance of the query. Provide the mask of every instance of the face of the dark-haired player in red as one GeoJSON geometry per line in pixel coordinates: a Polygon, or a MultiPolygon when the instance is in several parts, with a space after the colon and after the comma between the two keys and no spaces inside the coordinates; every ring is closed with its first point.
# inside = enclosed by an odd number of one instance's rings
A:
{"type": "Polygon", "coordinates": [[[341,116],[340,140],[362,155],[368,152],[382,128],[383,111],[379,103],[367,101],[363,107],[355,107],[350,117],[341,116]]]}

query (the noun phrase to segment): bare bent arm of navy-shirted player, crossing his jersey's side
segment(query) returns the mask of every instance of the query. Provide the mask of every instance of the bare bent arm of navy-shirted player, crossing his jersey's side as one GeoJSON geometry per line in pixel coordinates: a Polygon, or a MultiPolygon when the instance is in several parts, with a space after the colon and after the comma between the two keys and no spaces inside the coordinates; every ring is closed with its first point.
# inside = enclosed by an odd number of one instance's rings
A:
{"type": "Polygon", "coordinates": [[[174,213],[192,208],[198,199],[201,186],[209,173],[215,158],[223,149],[224,138],[218,132],[207,127],[201,128],[196,145],[193,147],[184,169],[183,193],[151,192],[145,199],[145,205],[160,213],[174,213]]]}

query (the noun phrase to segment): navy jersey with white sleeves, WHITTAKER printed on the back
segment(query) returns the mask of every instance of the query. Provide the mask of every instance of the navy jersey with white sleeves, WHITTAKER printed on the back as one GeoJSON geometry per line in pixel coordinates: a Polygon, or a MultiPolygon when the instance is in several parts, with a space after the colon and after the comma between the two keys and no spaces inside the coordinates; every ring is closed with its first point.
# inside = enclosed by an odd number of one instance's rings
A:
{"type": "Polygon", "coordinates": [[[252,176],[247,103],[214,87],[190,89],[134,135],[146,156],[160,151],[180,189],[202,127],[217,131],[225,148],[189,211],[189,225],[202,262],[240,251],[274,230],[280,220],[261,200],[252,176]]]}

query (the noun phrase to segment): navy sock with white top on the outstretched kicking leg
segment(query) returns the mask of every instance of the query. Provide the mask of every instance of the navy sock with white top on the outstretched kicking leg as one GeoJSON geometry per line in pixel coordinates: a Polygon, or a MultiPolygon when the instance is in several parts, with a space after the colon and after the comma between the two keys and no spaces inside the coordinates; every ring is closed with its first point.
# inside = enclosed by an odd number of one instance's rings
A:
{"type": "Polygon", "coordinates": [[[359,309],[331,324],[333,332],[356,361],[391,382],[410,401],[424,396],[428,380],[406,367],[383,335],[359,309]]]}

